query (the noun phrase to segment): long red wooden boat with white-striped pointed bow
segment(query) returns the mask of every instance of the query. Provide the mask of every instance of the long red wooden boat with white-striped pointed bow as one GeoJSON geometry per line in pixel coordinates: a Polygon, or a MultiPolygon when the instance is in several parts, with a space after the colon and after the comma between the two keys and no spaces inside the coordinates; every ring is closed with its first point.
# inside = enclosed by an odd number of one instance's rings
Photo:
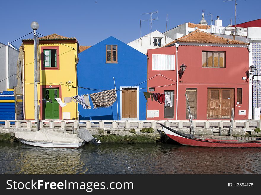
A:
{"type": "Polygon", "coordinates": [[[163,124],[160,124],[164,133],[173,139],[174,141],[188,146],[200,146],[200,147],[222,147],[222,148],[257,148],[261,147],[261,139],[258,140],[218,140],[218,139],[208,139],[200,138],[195,135],[181,133],[163,124]]]}

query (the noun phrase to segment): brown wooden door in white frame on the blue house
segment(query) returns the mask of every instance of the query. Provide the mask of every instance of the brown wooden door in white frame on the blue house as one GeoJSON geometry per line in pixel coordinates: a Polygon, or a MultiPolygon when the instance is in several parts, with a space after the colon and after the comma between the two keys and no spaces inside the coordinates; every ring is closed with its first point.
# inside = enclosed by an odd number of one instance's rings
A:
{"type": "Polygon", "coordinates": [[[122,89],[122,118],[137,117],[137,89],[122,89]]]}

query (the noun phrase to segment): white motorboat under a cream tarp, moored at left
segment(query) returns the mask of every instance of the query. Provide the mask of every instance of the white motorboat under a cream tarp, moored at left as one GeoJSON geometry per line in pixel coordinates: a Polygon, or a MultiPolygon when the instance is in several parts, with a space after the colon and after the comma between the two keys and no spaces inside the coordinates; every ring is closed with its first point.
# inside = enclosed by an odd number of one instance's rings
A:
{"type": "Polygon", "coordinates": [[[24,144],[39,147],[80,148],[85,143],[76,134],[61,133],[49,129],[40,129],[35,132],[17,132],[15,137],[24,144]]]}

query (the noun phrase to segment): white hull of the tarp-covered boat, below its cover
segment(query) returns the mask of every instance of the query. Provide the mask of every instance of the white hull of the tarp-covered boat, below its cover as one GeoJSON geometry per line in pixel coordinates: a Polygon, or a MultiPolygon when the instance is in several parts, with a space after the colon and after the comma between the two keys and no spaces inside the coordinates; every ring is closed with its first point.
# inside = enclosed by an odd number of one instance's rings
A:
{"type": "Polygon", "coordinates": [[[84,142],[79,143],[51,143],[51,142],[31,142],[25,139],[19,139],[23,144],[38,146],[38,147],[52,147],[52,148],[81,148],[84,142]]]}

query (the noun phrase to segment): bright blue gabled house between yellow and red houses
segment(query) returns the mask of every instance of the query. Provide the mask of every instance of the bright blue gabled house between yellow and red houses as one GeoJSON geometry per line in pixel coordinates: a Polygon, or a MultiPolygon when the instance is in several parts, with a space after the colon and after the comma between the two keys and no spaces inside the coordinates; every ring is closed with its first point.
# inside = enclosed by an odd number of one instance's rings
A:
{"type": "Polygon", "coordinates": [[[147,56],[120,40],[109,37],[79,53],[78,94],[117,90],[111,107],[83,109],[80,120],[146,120],[147,56]],[[113,79],[114,78],[114,79],[113,79]]]}

